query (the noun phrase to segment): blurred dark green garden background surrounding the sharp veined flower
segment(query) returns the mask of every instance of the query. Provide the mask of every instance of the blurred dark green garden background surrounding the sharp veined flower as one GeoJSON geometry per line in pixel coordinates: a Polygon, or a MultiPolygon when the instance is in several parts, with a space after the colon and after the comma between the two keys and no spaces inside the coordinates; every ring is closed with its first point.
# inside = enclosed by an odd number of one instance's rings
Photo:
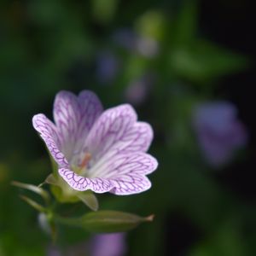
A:
{"type": "MultiPolygon", "coordinates": [[[[105,108],[130,102],[154,128],[152,189],[99,196],[102,209],[155,214],[128,233],[127,255],[256,255],[252,17],[242,0],[1,1],[0,255],[49,255],[38,213],[10,182],[51,172],[32,116],[52,117],[59,90],[84,89],[105,108]],[[197,104],[216,101],[236,106],[248,137],[220,166],[202,154],[192,120],[197,104]]],[[[89,236],[60,234],[62,248],[89,236]]]]}

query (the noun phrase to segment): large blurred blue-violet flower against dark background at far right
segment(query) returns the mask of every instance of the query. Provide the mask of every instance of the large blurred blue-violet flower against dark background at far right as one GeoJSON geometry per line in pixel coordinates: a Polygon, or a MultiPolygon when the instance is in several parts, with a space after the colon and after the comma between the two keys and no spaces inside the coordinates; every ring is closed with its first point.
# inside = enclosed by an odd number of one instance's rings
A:
{"type": "Polygon", "coordinates": [[[193,124],[203,154],[212,166],[227,163],[247,143],[245,126],[230,102],[207,102],[195,108],[193,124]]]}

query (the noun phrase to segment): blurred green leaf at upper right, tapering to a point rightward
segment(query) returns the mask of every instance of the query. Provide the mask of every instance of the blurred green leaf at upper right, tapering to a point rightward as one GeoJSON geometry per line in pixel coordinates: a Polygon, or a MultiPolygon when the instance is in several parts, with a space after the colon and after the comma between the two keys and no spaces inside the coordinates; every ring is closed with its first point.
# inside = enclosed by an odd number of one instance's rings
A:
{"type": "Polygon", "coordinates": [[[247,58],[204,40],[196,40],[186,47],[175,49],[170,68],[178,76],[195,82],[206,82],[219,76],[242,70],[247,58]]]}

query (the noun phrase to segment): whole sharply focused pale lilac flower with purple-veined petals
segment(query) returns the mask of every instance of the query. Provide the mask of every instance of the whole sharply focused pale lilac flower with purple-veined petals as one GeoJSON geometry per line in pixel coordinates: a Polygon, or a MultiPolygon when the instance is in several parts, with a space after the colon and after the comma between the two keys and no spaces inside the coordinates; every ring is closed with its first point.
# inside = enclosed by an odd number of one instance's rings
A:
{"type": "Polygon", "coordinates": [[[55,97],[54,119],[55,124],[38,113],[32,123],[73,189],[130,195],[151,187],[146,175],[158,163],[145,152],[153,131],[137,121],[131,105],[103,111],[92,91],[75,96],[63,90],[55,97]]]}

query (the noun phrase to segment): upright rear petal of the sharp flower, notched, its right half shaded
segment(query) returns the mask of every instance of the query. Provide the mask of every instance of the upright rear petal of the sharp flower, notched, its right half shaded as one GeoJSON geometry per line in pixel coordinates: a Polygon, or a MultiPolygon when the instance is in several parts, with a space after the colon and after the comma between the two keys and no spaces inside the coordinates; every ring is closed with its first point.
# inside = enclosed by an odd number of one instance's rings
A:
{"type": "Polygon", "coordinates": [[[90,90],[79,96],[62,90],[55,97],[54,119],[61,137],[61,149],[68,160],[81,151],[91,126],[102,113],[102,103],[90,90]]]}

